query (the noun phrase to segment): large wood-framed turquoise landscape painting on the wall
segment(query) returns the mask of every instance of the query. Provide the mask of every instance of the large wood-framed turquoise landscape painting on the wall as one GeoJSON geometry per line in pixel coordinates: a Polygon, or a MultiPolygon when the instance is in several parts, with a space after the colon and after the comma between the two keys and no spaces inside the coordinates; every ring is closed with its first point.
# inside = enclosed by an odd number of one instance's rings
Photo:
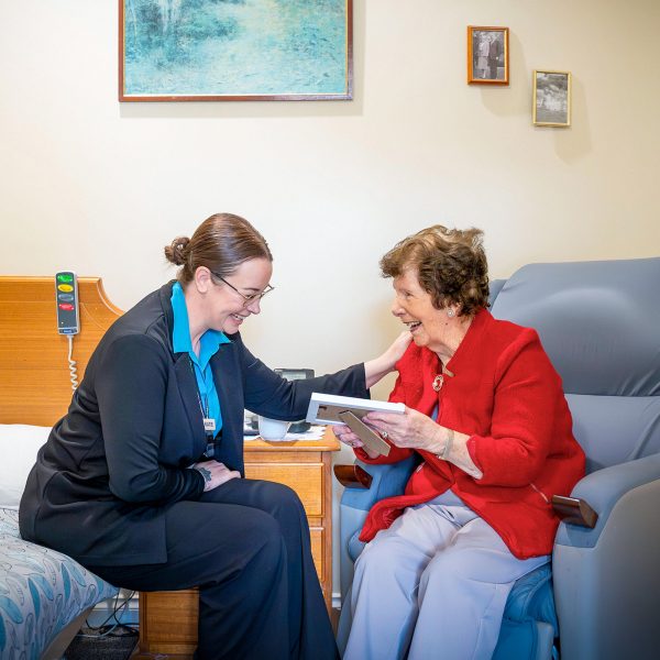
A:
{"type": "Polygon", "coordinates": [[[353,0],[119,0],[119,100],[349,100],[352,40],[353,0]]]}

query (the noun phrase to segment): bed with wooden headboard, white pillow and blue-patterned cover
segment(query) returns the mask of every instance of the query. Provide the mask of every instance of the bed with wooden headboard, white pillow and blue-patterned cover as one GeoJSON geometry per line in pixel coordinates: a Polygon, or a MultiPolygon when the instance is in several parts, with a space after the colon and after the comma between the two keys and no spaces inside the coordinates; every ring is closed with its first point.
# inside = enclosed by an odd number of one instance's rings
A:
{"type": "MultiPolygon", "coordinates": [[[[121,315],[98,277],[78,279],[81,378],[121,315]]],[[[61,658],[97,603],[118,590],[73,559],[23,541],[18,504],[38,448],[72,397],[68,340],[55,317],[54,277],[0,276],[0,658],[61,658]]],[[[75,531],[75,530],[72,530],[75,531]]]]}

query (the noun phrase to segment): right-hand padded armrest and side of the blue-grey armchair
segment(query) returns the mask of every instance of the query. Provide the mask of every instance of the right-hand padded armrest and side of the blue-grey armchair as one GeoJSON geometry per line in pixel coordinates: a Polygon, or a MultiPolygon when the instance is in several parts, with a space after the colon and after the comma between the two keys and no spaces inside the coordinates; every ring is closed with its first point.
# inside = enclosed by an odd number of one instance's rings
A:
{"type": "Polygon", "coordinates": [[[660,454],[600,470],[573,490],[594,529],[561,524],[552,554],[562,658],[654,658],[660,610],[660,454]]]}

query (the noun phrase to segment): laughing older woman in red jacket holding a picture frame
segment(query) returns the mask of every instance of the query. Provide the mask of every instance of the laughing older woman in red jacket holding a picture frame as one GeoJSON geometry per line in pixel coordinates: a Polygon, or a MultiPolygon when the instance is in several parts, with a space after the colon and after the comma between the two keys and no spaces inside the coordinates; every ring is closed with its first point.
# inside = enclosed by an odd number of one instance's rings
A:
{"type": "Polygon", "coordinates": [[[344,660],[491,658],[516,580],[550,559],[550,497],[584,474],[559,375],[538,334],[487,307],[482,232],[436,226],[381,260],[393,314],[413,334],[389,397],[365,417],[392,444],[370,463],[419,454],[405,494],[378,502],[355,564],[344,660]]]}

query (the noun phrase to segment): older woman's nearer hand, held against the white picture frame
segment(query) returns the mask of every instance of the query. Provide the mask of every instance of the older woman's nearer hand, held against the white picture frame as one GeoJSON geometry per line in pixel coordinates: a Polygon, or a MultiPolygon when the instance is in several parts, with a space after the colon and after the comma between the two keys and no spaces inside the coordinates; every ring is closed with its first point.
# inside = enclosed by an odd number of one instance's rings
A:
{"type": "Polygon", "coordinates": [[[444,447],[446,429],[430,417],[407,406],[404,415],[369,413],[363,421],[396,447],[425,449],[432,453],[442,451],[444,447]]]}

